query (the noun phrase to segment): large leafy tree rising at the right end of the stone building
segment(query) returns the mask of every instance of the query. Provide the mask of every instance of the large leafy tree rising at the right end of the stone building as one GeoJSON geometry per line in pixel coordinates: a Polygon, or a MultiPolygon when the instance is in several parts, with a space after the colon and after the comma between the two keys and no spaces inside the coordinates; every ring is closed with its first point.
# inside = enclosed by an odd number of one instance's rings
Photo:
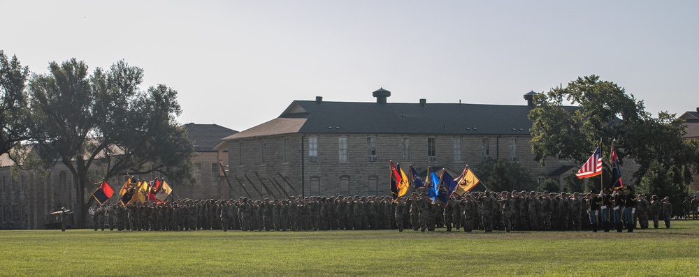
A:
{"type": "Polygon", "coordinates": [[[655,161],[668,166],[699,165],[699,144],[683,139],[686,126],[682,119],[668,112],[653,117],[645,112],[642,100],[596,75],[578,77],[566,87],[540,93],[534,102],[529,114],[531,148],[542,164],[547,157],[583,163],[600,139],[607,146],[603,149],[606,160],[616,138],[622,162],[631,158],[640,165],[633,172],[636,185],[655,161]]]}

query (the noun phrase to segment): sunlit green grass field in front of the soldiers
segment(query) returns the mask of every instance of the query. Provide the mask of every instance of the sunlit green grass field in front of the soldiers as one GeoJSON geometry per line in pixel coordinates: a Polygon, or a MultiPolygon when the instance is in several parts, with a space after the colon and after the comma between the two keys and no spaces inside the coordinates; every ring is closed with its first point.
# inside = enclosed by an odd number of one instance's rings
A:
{"type": "Polygon", "coordinates": [[[0,276],[399,275],[699,276],[699,220],[633,234],[0,231],[0,276]]]}

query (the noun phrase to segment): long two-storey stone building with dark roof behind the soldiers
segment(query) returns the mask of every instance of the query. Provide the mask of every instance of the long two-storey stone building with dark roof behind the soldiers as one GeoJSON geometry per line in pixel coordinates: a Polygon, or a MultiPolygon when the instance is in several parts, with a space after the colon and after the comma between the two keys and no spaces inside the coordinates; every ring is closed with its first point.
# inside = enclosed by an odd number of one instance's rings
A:
{"type": "Polygon", "coordinates": [[[486,158],[504,158],[565,187],[564,177],[577,166],[548,158],[542,167],[531,153],[533,94],[524,95],[527,105],[388,103],[391,93],[384,89],[373,92],[375,103],[295,100],[279,117],[225,137],[217,149],[229,151],[234,192],[244,193],[238,177],[245,186],[252,181],[263,197],[271,195],[256,173],[267,183],[282,175],[304,196],[390,195],[389,160],[418,171],[461,172],[486,158]]]}

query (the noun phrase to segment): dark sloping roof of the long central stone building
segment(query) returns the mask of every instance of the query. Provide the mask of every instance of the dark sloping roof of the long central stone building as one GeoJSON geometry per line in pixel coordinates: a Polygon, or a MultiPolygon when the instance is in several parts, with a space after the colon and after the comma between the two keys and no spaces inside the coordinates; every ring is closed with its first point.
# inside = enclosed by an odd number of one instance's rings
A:
{"type": "Polygon", "coordinates": [[[329,102],[322,98],[294,100],[278,118],[224,140],[287,133],[529,135],[532,121],[528,114],[532,108],[461,103],[329,102]]]}

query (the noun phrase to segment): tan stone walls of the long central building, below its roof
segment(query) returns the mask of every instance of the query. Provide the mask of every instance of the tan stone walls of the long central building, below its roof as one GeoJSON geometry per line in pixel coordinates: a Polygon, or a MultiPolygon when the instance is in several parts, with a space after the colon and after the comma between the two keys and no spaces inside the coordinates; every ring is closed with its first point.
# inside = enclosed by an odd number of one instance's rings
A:
{"type": "MultiPolygon", "coordinates": [[[[250,186],[250,181],[261,193],[262,197],[270,197],[259,179],[257,172],[266,182],[273,194],[279,196],[277,190],[271,188],[267,177],[275,177],[280,183],[278,172],[286,177],[303,195],[390,195],[389,191],[389,160],[401,163],[405,171],[408,165],[413,165],[419,172],[427,167],[440,169],[447,167],[455,172],[461,172],[466,165],[477,165],[484,159],[483,139],[489,142],[489,156],[491,158],[510,158],[510,141],[514,139],[516,144],[516,158],[514,160],[531,170],[533,177],[544,179],[550,172],[561,167],[571,165],[568,161],[548,158],[546,167],[542,167],[538,160],[534,159],[529,146],[531,137],[528,135],[313,135],[291,134],[271,137],[256,137],[239,140],[231,140],[228,144],[229,163],[231,165],[230,180],[233,190],[237,195],[247,196],[240,188],[237,176],[245,184],[252,198],[259,198],[259,194],[250,186]],[[309,138],[317,137],[317,159],[309,157],[309,138]],[[347,161],[340,160],[339,139],[347,138],[347,161]],[[376,158],[368,158],[368,137],[375,138],[376,158]],[[410,140],[408,160],[403,160],[403,139],[410,140]],[[428,157],[428,139],[434,138],[435,159],[428,157]],[[454,157],[454,139],[461,140],[461,160],[454,157]],[[287,140],[288,161],[284,161],[284,140],[287,140]],[[302,145],[303,141],[303,166],[302,145]],[[264,145],[264,163],[263,148],[264,145]],[[242,158],[240,156],[242,150],[242,158]],[[241,163],[242,162],[242,163],[241,163]],[[247,181],[245,175],[250,179],[247,181]],[[303,177],[303,178],[302,178],[303,177]],[[343,183],[346,182],[346,183],[343,183]],[[319,188],[312,188],[312,184],[319,184],[319,188]],[[341,186],[349,185],[347,188],[341,186]],[[370,188],[377,186],[377,188],[370,188]]],[[[456,176],[454,176],[456,177],[456,176]]],[[[284,186],[288,193],[292,190],[284,186]]]]}

